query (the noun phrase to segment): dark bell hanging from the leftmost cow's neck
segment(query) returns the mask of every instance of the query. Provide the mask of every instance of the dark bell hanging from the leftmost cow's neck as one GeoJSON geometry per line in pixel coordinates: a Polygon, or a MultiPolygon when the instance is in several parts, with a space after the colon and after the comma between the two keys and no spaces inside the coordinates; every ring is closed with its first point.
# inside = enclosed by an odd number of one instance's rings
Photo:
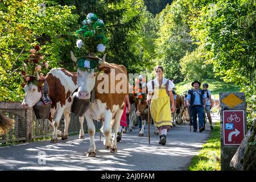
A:
{"type": "Polygon", "coordinates": [[[33,106],[36,119],[48,119],[49,113],[51,111],[51,104],[44,104],[43,101],[39,101],[33,106]]]}

